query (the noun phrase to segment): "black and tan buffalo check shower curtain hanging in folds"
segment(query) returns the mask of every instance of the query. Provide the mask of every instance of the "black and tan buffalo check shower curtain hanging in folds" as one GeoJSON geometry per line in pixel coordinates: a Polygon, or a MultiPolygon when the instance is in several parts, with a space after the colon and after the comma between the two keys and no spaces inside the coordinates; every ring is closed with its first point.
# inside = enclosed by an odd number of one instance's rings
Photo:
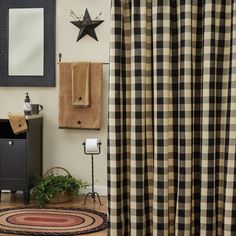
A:
{"type": "Polygon", "coordinates": [[[109,235],[236,235],[236,2],[112,0],[109,235]]]}

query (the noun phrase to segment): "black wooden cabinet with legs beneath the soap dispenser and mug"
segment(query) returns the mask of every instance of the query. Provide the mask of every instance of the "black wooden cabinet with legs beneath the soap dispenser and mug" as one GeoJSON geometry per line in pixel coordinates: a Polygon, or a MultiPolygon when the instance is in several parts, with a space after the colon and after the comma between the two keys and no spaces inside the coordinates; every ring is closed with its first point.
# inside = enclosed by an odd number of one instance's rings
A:
{"type": "Polygon", "coordinates": [[[42,116],[28,116],[28,131],[14,134],[10,122],[0,119],[0,194],[1,190],[21,190],[29,203],[30,189],[42,176],[42,116]]]}

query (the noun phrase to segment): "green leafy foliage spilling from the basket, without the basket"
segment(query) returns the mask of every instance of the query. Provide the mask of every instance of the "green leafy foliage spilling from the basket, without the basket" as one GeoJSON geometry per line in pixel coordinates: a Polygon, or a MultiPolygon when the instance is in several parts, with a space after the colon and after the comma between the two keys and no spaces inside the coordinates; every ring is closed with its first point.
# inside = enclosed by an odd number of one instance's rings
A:
{"type": "Polygon", "coordinates": [[[50,202],[58,193],[78,195],[82,188],[89,186],[86,182],[71,175],[50,174],[41,178],[33,188],[34,202],[43,206],[50,202]]]}

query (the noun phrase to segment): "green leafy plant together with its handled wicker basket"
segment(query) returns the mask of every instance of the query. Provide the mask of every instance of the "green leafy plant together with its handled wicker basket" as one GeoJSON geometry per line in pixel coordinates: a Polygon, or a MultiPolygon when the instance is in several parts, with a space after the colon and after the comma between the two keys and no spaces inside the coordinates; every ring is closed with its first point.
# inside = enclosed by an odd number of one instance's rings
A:
{"type": "Polygon", "coordinates": [[[33,188],[34,202],[43,206],[48,202],[59,203],[70,201],[82,188],[89,186],[81,179],[76,179],[62,167],[49,169],[33,188]],[[62,174],[60,172],[66,173],[62,174]]]}

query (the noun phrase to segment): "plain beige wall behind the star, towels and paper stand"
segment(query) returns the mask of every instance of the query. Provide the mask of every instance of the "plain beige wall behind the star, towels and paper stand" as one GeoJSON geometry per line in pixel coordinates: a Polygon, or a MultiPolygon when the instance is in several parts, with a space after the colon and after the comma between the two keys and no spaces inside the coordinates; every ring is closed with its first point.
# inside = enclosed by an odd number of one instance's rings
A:
{"type": "MultiPolygon", "coordinates": [[[[92,2],[87,1],[88,4],[92,2]]],[[[91,40],[86,36],[82,39],[82,46],[76,43],[76,38],[71,37],[71,33],[74,33],[75,37],[79,32],[78,29],[74,28],[72,24],[69,23],[68,18],[69,13],[65,8],[65,4],[72,4],[71,7],[78,12],[84,14],[85,8],[81,7],[75,8],[75,5],[79,5],[80,1],[75,0],[57,0],[57,43],[56,43],[56,54],[62,52],[64,61],[76,61],[76,60],[91,60],[94,59],[91,53],[96,53],[96,49],[101,47],[104,49],[103,58],[96,56],[95,61],[107,60],[108,47],[107,43],[104,44],[104,40],[101,37],[109,38],[109,29],[107,26],[101,27],[96,30],[97,36],[101,42],[96,42],[91,40]],[[63,11],[64,9],[64,11],[63,11]],[[68,25],[63,28],[64,24],[68,21],[68,25]],[[62,27],[61,27],[62,26],[62,27]],[[107,31],[108,30],[108,31],[107,31]],[[105,34],[104,34],[105,32],[105,34]],[[68,49],[68,44],[74,50],[68,49]],[[87,45],[87,46],[86,46],[87,45]],[[100,46],[99,46],[100,45],[100,46]],[[63,49],[63,50],[62,50],[63,49]],[[68,51],[67,51],[68,49],[68,51]],[[89,51],[90,50],[90,51],[89,51]],[[95,50],[95,51],[94,51],[95,50]],[[69,53],[68,53],[69,52],[69,53]],[[80,57],[79,55],[85,55],[86,57],[80,57]],[[91,58],[91,59],[90,59],[91,58]],[[99,60],[100,59],[100,60],[99,60]]],[[[83,1],[82,1],[83,2],[83,1]]],[[[98,1],[95,1],[98,2],[98,1]]],[[[105,1],[105,4],[109,4],[105,1]]],[[[76,6],[77,6],[76,5],[76,6]]],[[[68,6],[67,6],[68,7],[68,6]]],[[[78,6],[79,7],[79,6],[78,6]]],[[[94,6],[97,7],[98,6],[94,6]]],[[[88,6],[89,9],[89,6],[88,6]]],[[[108,6],[109,9],[109,6],[108,6]]],[[[92,14],[91,14],[91,18],[92,14]]],[[[106,12],[105,15],[101,17],[102,19],[109,19],[109,13],[106,12]]],[[[58,56],[55,56],[58,60],[58,56]]],[[[97,55],[97,54],[96,54],[97,55]]],[[[102,128],[99,131],[96,130],[68,130],[68,129],[58,129],[58,65],[56,64],[57,78],[56,87],[52,88],[37,88],[37,87],[0,87],[0,117],[7,117],[8,112],[22,112],[22,107],[24,103],[25,92],[28,92],[32,103],[40,103],[44,106],[43,117],[44,117],[44,127],[43,127],[43,170],[46,171],[48,168],[53,166],[62,166],[68,169],[72,175],[81,177],[88,182],[91,182],[91,158],[86,156],[83,152],[83,141],[86,138],[98,138],[102,142],[101,154],[95,156],[95,190],[100,194],[106,194],[106,181],[107,181],[107,94],[108,94],[108,65],[104,65],[104,78],[103,78],[103,118],[102,118],[102,128]]]]}

